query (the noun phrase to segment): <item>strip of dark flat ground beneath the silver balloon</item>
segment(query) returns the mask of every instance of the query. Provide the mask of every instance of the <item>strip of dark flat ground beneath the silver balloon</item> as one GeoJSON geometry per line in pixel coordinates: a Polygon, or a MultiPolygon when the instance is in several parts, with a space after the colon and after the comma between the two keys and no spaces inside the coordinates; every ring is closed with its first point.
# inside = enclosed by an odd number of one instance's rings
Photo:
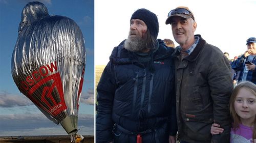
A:
{"type": "MultiPolygon", "coordinates": [[[[5,138],[0,143],[70,143],[70,136],[24,137],[24,140],[5,138]]],[[[93,143],[94,136],[84,136],[83,143],[93,143]]]]}

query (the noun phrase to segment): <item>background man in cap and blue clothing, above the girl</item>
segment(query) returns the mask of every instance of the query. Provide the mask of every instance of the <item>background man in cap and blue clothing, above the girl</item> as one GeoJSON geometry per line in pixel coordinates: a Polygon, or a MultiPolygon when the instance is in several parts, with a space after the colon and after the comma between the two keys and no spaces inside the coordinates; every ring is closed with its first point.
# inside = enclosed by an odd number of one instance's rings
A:
{"type": "Polygon", "coordinates": [[[256,84],[256,38],[251,37],[246,40],[247,50],[244,54],[232,63],[232,69],[239,70],[240,76],[238,82],[240,81],[251,81],[256,84]]]}

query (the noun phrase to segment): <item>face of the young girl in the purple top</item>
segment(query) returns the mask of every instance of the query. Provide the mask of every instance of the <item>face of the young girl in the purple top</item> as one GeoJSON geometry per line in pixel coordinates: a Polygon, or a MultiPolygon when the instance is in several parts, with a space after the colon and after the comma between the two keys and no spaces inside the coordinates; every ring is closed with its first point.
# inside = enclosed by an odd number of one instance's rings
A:
{"type": "Polygon", "coordinates": [[[249,90],[241,88],[234,101],[234,109],[242,123],[252,123],[256,115],[256,96],[249,90]]]}

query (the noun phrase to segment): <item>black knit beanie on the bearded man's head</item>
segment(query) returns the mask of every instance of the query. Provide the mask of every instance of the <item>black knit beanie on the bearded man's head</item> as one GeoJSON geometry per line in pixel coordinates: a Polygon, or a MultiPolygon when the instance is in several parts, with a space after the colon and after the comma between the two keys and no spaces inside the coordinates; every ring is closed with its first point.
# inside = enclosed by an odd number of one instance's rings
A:
{"type": "Polygon", "coordinates": [[[130,19],[140,19],[144,21],[147,25],[148,30],[150,30],[150,34],[157,39],[157,35],[159,32],[159,24],[158,19],[155,13],[146,10],[146,9],[138,9],[135,11],[130,19]]]}

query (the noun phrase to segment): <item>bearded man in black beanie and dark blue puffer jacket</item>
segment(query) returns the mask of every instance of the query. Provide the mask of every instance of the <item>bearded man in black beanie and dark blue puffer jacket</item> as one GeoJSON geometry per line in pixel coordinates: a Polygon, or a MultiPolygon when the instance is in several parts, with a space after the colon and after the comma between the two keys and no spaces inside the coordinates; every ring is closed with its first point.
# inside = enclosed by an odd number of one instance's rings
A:
{"type": "Polygon", "coordinates": [[[130,33],[115,47],[97,87],[96,142],[176,141],[174,63],[157,40],[157,16],[135,11],[130,33]]]}

